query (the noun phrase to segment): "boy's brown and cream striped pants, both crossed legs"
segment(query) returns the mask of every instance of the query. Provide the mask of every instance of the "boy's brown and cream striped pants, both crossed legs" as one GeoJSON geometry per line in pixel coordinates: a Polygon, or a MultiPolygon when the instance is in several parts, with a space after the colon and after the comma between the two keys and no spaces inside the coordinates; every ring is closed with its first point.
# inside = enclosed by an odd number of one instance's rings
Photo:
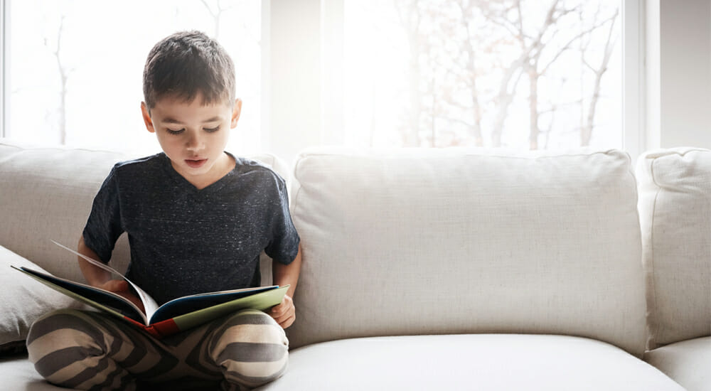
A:
{"type": "Polygon", "coordinates": [[[156,340],[95,311],[39,318],[27,338],[40,375],[80,390],[248,390],[287,369],[289,340],[262,311],[239,311],[156,340]]]}

